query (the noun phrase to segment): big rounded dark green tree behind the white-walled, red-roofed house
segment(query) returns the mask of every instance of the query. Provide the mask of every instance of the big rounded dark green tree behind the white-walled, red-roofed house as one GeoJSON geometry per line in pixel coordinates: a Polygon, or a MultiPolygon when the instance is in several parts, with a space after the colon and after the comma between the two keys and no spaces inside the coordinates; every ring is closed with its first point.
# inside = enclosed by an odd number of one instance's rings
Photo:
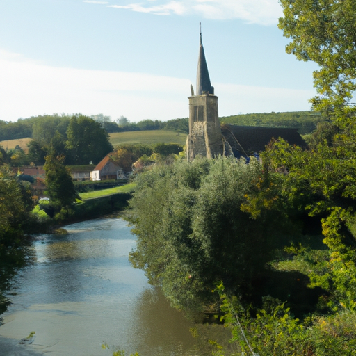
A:
{"type": "Polygon", "coordinates": [[[73,115],[67,129],[66,149],[72,164],[99,163],[113,151],[108,133],[99,122],[84,115],[73,115]]]}

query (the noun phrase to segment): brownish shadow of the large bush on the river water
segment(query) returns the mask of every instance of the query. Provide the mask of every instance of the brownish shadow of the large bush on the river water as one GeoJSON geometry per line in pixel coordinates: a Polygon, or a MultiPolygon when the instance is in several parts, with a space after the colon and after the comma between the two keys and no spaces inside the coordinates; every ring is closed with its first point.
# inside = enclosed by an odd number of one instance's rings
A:
{"type": "Polygon", "coordinates": [[[132,320],[136,323],[127,329],[130,352],[138,351],[140,355],[212,355],[216,349],[209,340],[217,341],[225,350],[238,350],[229,343],[231,332],[223,325],[188,321],[182,312],[170,307],[159,288],[145,289],[140,294],[132,320]]]}

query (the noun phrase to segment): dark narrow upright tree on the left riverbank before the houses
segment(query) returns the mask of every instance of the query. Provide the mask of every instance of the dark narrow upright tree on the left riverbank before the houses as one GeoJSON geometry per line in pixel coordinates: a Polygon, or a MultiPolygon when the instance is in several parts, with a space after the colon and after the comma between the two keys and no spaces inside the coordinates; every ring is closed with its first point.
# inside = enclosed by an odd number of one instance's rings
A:
{"type": "Polygon", "coordinates": [[[62,207],[69,209],[77,197],[70,171],[63,164],[64,160],[65,156],[49,154],[43,167],[48,195],[58,211],[62,207]]]}

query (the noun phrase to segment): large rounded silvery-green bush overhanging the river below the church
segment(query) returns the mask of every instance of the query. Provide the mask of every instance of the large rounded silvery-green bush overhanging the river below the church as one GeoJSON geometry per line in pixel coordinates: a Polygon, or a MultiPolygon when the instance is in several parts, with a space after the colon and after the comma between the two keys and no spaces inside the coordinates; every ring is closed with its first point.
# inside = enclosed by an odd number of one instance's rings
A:
{"type": "Polygon", "coordinates": [[[264,183],[269,196],[259,216],[252,219],[245,209],[262,177],[256,160],[246,165],[223,158],[156,165],[138,175],[129,212],[138,236],[133,266],[145,270],[180,309],[213,302],[217,280],[244,302],[259,300],[257,280],[266,275],[266,263],[291,231],[298,234],[278,201],[273,177],[264,183]]]}

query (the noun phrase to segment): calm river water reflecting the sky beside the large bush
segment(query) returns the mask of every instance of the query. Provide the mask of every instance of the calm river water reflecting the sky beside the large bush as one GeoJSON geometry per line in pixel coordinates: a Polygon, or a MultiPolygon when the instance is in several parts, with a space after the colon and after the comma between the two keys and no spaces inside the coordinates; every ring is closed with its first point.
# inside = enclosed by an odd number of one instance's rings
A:
{"type": "Polygon", "coordinates": [[[106,356],[114,347],[142,356],[199,355],[193,325],[130,266],[135,236],[124,220],[65,229],[69,234],[38,236],[33,264],[15,277],[0,356],[106,356]],[[32,331],[33,343],[19,344],[32,331]]]}

